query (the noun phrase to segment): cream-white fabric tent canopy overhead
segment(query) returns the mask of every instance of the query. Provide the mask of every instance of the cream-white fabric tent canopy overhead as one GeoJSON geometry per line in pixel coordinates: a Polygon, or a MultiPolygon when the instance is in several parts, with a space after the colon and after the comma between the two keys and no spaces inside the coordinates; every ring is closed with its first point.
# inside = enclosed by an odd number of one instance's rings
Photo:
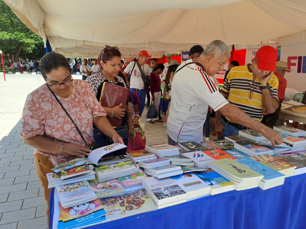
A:
{"type": "Polygon", "coordinates": [[[306,42],[305,0],[4,2],[66,57],[97,57],[104,45],[117,46],[123,57],[136,57],[143,49],[162,57],[195,44],[205,48],[215,39],[237,48],[256,42],[306,42]]]}

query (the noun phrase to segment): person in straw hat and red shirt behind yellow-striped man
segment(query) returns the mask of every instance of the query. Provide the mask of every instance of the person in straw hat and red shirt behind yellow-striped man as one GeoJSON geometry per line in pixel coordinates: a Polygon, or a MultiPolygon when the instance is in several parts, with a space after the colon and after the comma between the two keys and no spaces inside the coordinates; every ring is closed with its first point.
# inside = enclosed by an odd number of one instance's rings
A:
{"type": "MultiPolygon", "coordinates": [[[[273,128],[273,126],[276,124],[279,116],[279,111],[282,106],[282,101],[285,99],[285,89],[287,87],[287,80],[284,78],[285,73],[287,71],[292,71],[288,68],[288,64],[285,61],[278,61],[276,62],[276,71],[274,72],[274,75],[276,75],[278,79],[278,101],[279,106],[276,109],[276,111],[272,114],[265,114],[263,116],[263,120],[261,121],[266,126],[269,126],[270,128],[273,128]]],[[[283,124],[281,124],[283,125],[283,124]]]]}

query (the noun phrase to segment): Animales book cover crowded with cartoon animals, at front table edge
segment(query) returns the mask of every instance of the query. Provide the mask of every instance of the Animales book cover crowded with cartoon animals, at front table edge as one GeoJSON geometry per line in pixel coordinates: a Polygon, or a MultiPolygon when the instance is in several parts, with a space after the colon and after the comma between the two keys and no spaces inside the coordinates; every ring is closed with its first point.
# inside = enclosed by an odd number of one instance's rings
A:
{"type": "Polygon", "coordinates": [[[117,220],[157,208],[144,188],[127,191],[124,194],[101,199],[106,211],[106,220],[117,220]]]}

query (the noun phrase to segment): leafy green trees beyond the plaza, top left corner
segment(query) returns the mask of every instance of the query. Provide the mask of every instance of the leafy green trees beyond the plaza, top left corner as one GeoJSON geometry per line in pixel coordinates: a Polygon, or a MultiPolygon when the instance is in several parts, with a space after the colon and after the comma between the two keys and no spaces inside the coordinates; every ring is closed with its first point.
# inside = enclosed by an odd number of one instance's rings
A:
{"type": "Polygon", "coordinates": [[[17,61],[19,56],[37,60],[46,54],[43,39],[29,30],[2,0],[0,15],[0,49],[6,60],[17,61]]]}

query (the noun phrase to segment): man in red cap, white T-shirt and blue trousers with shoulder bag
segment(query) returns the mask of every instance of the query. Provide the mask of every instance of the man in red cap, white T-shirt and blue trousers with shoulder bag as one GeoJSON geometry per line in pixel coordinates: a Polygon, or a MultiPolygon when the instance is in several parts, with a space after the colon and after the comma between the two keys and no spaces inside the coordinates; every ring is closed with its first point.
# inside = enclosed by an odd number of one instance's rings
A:
{"type": "MultiPolygon", "coordinates": [[[[139,53],[139,65],[141,67],[141,70],[143,71],[144,75],[149,76],[150,71],[149,71],[149,65],[147,65],[147,60],[151,56],[147,53],[147,51],[142,50],[139,53]]],[[[146,89],[144,88],[144,81],[141,78],[141,73],[139,70],[139,67],[137,64],[132,61],[128,67],[125,68],[123,71],[123,74],[125,76],[126,83],[130,85],[130,90],[132,92],[135,92],[139,98],[140,104],[139,104],[139,115],[141,117],[142,112],[144,111],[144,104],[145,104],[145,99],[146,99],[146,89]],[[135,64],[135,66],[134,66],[135,64]],[[128,74],[130,74],[130,81],[128,79],[128,74]]]]}

